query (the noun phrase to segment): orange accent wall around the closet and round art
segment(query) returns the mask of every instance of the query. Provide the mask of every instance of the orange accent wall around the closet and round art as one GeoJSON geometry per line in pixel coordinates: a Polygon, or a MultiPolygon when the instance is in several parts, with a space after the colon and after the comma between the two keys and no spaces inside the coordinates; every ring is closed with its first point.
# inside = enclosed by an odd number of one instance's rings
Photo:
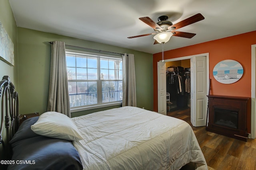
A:
{"type": "MultiPolygon", "coordinates": [[[[251,45],[254,44],[256,44],[256,31],[165,51],[164,59],[209,53],[209,76],[212,80],[210,94],[251,97],[251,45]],[[214,66],[220,61],[227,59],[238,61],[244,68],[242,78],[233,84],[222,84],[216,81],[212,74],[214,66]]],[[[160,60],[162,60],[162,53],[153,55],[154,111],[158,111],[157,62],[160,60]]],[[[248,102],[247,129],[248,133],[250,133],[251,101],[248,102]]]]}

